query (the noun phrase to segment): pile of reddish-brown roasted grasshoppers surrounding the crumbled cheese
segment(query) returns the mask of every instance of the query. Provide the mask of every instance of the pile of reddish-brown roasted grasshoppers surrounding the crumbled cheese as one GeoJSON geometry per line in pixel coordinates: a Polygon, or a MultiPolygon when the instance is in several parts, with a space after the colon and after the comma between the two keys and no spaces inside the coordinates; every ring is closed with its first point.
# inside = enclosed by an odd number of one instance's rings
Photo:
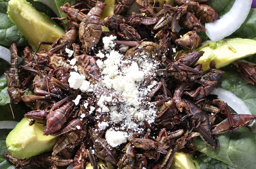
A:
{"type": "MultiPolygon", "coordinates": [[[[33,53],[25,48],[26,65],[18,68],[17,48],[13,44],[10,48],[12,64],[6,72],[10,99],[13,104],[23,101],[30,107],[32,111],[25,114],[32,119],[30,125],[35,121],[45,124],[44,135],[58,136],[58,142],[51,154],[23,160],[9,153],[5,157],[15,167],[30,164],[55,169],[73,163],[73,169],[83,169],[90,161],[96,169],[101,159],[119,169],[162,169],[171,166],[176,151],[192,154],[196,150],[193,138],[197,136],[217,148],[215,135],[234,132],[240,127],[252,130],[249,124],[256,115],[234,115],[226,103],[210,96],[224,72],[215,68],[214,61],[210,62],[206,73],[201,71],[202,65],[195,65],[204,54],[204,51],[193,51],[201,44],[197,33],[205,31],[200,21],[207,23],[218,19],[218,14],[205,4],[206,1],[174,0],[175,6],[159,7],[148,0],[136,0],[140,12],[145,15],[135,12],[125,15],[135,0],[116,0],[114,14],[102,23],[104,0],[77,0],[73,6],[66,3],[61,7],[67,17],[57,19],[67,20],[66,34],[52,43],[52,49],[33,53]],[[175,31],[177,24],[182,31],[175,31]],[[102,25],[110,31],[102,32],[102,25]],[[68,85],[74,67],[67,62],[65,52],[66,48],[72,49],[79,73],[92,84],[99,82],[101,70],[96,60],[100,58],[96,53],[104,51],[102,37],[110,35],[117,36],[114,48],[129,46],[126,59],[134,59],[144,52],[148,57],[157,54],[154,59],[160,62],[160,69],[154,70],[156,76],[144,79],[144,86],[152,80],[157,81],[156,87],[145,97],[157,107],[154,123],[144,121],[144,132],[134,132],[125,144],[116,148],[105,139],[107,127],[102,132],[94,130],[99,120],[109,120],[109,117],[97,111],[88,113],[90,107],[97,107],[99,98],[93,94],[97,91],[81,93],[68,85]],[[190,52],[183,56],[179,52],[174,59],[174,49],[178,48],[190,52]],[[86,99],[75,106],[72,100],[78,94],[86,99]],[[85,104],[88,106],[84,107],[85,104]],[[85,117],[80,118],[81,114],[85,117]],[[96,115],[100,118],[96,119],[96,115]],[[218,116],[224,120],[218,121],[218,116]]],[[[256,82],[255,67],[246,63],[238,63],[238,66],[233,65],[244,79],[256,82]]]]}

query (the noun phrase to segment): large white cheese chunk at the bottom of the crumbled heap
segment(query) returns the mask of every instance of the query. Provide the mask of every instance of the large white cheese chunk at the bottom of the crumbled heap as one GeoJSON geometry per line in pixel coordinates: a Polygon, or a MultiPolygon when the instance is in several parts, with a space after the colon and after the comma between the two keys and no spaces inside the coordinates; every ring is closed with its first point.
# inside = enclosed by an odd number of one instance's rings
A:
{"type": "Polygon", "coordinates": [[[128,137],[127,132],[113,131],[113,130],[106,131],[106,141],[112,147],[116,147],[122,143],[125,143],[127,141],[127,137],[128,137]]]}

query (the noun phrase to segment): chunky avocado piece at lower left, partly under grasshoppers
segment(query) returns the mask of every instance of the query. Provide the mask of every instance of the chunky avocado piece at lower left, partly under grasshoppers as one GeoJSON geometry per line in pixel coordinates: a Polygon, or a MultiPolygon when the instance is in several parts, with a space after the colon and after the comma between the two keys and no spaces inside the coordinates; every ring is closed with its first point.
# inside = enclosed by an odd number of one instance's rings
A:
{"type": "Polygon", "coordinates": [[[43,135],[44,128],[43,124],[37,122],[29,126],[29,121],[23,118],[6,138],[6,146],[11,155],[29,158],[51,151],[58,137],[43,135]]]}

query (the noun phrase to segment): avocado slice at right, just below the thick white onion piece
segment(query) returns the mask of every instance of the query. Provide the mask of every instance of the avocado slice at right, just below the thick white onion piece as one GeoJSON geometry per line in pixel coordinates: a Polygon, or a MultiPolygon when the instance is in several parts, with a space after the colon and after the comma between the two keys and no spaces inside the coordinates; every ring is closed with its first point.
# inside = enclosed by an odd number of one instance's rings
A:
{"type": "MultiPolygon", "coordinates": [[[[204,51],[204,55],[196,64],[203,64],[203,71],[209,68],[209,62],[215,61],[216,68],[229,65],[237,59],[242,59],[256,53],[256,40],[253,39],[224,39],[218,42],[207,42],[195,51],[204,51]]],[[[176,53],[177,54],[177,53],[176,53]]]]}

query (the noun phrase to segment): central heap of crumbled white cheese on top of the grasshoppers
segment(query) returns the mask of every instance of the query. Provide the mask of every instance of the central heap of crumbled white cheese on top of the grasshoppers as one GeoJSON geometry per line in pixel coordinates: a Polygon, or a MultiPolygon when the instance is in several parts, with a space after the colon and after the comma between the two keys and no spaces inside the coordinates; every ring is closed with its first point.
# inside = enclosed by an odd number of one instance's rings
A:
{"type": "MultiPolygon", "coordinates": [[[[154,77],[154,70],[160,67],[160,63],[154,59],[156,54],[148,56],[147,52],[137,52],[135,58],[127,59],[123,54],[113,50],[113,40],[115,38],[113,36],[105,37],[104,45],[106,51],[104,54],[102,52],[97,54],[99,58],[104,58],[96,60],[96,64],[101,69],[101,80],[96,84],[90,84],[90,82],[84,80],[85,77],[83,76],[84,78],[80,80],[78,86],[82,92],[102,91],[95,93],[96,98],[98,98],[96,111],[105,113],[111,120],[100,123],[100,129],[110,127],[111,131],[131,130],[132,132],[143,132],[140,127],[144,125],[143,121],[146,120],[149,124],[153,123],[157,113],[156,107],[150,101],[145,101],[145,96],[157,85],[157,82],[153,80],[150,85],[143,87],[144,78],[146,76],[154,77]]],[[[73,86],[71,84],[71,87],[73,86]]],[[[84,104],[84,107],[87,109],[88,103],[84,104]]],[[[95,107],[90,106],[88,113],[91,114],[94,110],[95,107]]],[[[84,115],[80,117],[82,119],[84,115]]],[[[96,116],[96,119],[99,119],[99,116],[96,116]]],[[[127,134],[121,132],[120,135],[127,134]]],[[[131,134],[129,133],[129,135],[131,134]]],[[[120,138],[126,141],[126,137],[120,138]]]]}

